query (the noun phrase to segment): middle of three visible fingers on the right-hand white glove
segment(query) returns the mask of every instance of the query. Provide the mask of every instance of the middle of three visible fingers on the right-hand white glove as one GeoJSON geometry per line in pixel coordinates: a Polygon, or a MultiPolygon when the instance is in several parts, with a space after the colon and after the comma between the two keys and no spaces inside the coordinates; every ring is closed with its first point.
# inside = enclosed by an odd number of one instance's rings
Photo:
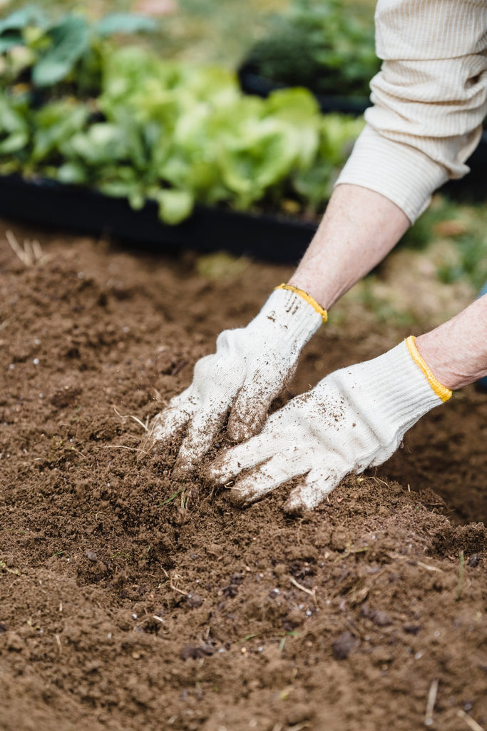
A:
{"type": "Polygon", "coordinates": [[[306,470],[304,460],[293,461],[286,455],[277,454],[245,477],[240,477],[231,488],[230,499],[234,505],[253,503],[306,470]]]}

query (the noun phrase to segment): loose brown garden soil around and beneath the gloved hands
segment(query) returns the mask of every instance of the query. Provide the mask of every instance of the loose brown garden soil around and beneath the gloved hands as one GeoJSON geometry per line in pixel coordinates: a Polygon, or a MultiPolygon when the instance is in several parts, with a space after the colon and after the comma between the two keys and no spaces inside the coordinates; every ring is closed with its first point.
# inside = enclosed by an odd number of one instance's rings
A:
{"type": "MultiPolygon", "coordinates": [[[[285,488],[238,510],[140,455],[127,414],[156,414],[288,270],[41,241],[31,268],[0,248],[2,731],[486,727],[487,396],[305,518],[285,488]]],[[[406,334],[327,327],[292,392],[406,334]]]]}

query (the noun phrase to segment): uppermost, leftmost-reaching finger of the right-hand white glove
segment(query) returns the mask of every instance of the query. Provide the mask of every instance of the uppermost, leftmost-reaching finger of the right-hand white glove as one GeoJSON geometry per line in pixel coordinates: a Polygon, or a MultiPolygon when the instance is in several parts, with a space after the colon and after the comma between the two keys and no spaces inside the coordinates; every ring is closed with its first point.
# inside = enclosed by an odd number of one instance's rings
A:
{"type": "Polygon", "coordinates": [[[269,428],[268,421],[260,434],[253,436],[245,444],[230,447],[219,455],[207,469],[207,479],[215,485],[225,485],[237,477],[242,469],[255,467],[276,454],[283,454],[290,442],[292,443],[292,437],[288,431],[276,432],[269,428]]]}

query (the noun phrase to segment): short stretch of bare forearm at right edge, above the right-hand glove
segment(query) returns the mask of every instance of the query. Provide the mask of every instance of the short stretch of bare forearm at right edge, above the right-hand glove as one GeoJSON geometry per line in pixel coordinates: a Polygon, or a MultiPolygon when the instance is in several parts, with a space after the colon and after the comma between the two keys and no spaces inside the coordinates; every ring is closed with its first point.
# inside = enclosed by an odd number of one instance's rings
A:
{"type": "Polygon", "coordinates": [[[416,346],[434,376],[450,390],[487,376],[487,295],[416,338],[416,346]]]}

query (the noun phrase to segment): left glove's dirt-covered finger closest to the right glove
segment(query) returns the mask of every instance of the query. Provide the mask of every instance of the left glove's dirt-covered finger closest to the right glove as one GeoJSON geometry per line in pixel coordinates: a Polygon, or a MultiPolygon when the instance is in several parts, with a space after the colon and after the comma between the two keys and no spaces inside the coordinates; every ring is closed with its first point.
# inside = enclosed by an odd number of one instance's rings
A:
{"type": "MultiPolygon", "coordinates": [[[[288,374],[286,375],[286,380],[288,374]]],[[[276,374],[254,375],[239,391],[231,409],[226,432],[232,442],[250,439],[264,426],[269,406],[283,390],[283,378],[276,374]]]]}

